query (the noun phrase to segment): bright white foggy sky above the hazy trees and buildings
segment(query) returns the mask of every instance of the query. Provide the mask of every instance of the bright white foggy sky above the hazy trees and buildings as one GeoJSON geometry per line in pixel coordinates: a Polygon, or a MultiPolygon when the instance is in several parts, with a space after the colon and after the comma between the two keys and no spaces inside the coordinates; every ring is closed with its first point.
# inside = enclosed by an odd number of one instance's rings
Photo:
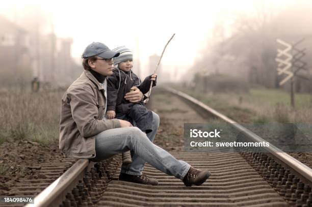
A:
{"type": "MultiPolygon", "coordinates": [[[[228,22],[232,13],[254,15],[257,5],[271,5],[279,11],[298,1],[2,1],[0,14],[21,23],[36,10],[45,15],[43,33],[73,38],[72,56],[81,57],[93,41],[111,49],[125,45],[139,56],[141,67],[148,56],[161,54],[173,33],[162,59],[163,65],[181,71],[190,67],[212,41],[217,21],[228,22]]],[[[21,25],[22,26],[22,25],[21,25]]]]}

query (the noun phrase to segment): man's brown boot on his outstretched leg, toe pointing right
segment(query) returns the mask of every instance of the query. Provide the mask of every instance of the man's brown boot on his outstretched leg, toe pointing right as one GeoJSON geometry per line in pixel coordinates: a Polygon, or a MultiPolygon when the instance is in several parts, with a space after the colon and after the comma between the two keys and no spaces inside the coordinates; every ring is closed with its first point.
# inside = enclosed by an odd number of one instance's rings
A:
{"type": "Polygon", "coordinates": [[[194,167],[190,167],[189,171],[183,179],[183,183],[188,187],[192,186],[193,184],[200,186],[209,178],[210,175],[211,173],[208,170],[198,170],[194,167]]]}

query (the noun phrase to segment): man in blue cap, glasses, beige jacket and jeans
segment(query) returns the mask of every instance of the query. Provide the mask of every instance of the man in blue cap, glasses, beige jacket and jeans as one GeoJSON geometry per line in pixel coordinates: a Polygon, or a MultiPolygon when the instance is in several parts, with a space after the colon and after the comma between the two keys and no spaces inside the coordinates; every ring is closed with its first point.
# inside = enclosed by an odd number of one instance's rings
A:
{"type": "MultiPolygon", "coordinates": [[[[83,53],[85,71],[68,88],[62,98],[60,121],[60,150],[69,158],[100,161],[113,155],[132,151],[133,162],[121,166],[119,180],[158,185],[156,179],[142,174],[145,162],[174,175],[186,186],[201,185],[210,176],[207,170],[197,170],[188,163],[176,160],[161,147],[152,143],[159,126],[159,117],[153,113],[153,128],[145,134],[131,123],[119,119],[103,119],[106,113],[107,76],[113,74],[113,58],[118,52],[105,44],[93,42],[83,53]]],[[[125,98],[133,103],[143,100],[143,94],[134,87],[125,98]]]]}

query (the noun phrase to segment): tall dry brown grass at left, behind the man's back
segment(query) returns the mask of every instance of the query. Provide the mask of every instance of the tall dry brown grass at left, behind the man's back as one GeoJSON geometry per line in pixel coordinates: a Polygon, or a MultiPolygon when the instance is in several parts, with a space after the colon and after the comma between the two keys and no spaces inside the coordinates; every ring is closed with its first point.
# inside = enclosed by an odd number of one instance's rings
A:
{"type": "Polygon", "coordinates": [[[31,140],[48,144],[59,137],[60,104],[64,92],[0,91],[0,143],[31,140]]]}

